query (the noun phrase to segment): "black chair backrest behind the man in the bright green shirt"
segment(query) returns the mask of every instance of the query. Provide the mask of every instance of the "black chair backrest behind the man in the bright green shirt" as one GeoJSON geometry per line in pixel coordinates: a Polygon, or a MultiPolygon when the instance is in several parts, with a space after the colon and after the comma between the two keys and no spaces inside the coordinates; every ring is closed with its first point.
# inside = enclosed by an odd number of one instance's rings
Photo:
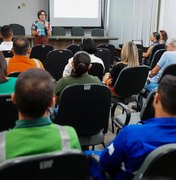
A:
{"type": "Polygon", "coordinates": [[[17,157],[0,163],[0,179],[87,180],[88,158],[79,150],[17,157]]]}

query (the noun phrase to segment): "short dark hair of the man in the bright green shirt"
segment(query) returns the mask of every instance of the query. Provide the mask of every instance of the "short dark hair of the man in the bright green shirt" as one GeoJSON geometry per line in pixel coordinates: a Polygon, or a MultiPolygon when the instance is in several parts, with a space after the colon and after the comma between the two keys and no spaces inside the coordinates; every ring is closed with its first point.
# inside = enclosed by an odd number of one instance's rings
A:
{"type": "Polygon", "coordinates": [[[42,69],[20,73],[15,86],[18,110],[30,118],[39,118],[48,109],[54,96],[54,80],[42,69]]]}

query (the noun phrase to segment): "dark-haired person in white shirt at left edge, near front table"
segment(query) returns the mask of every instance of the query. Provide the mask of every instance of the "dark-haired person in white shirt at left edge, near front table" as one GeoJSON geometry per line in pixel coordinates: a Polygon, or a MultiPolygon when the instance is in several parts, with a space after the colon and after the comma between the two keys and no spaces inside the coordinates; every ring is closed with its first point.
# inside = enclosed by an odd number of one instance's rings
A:
{"type": "Polygon", "coordinates": [[[0,44],[0,51],[9,51],[13,46],[13,32],[9,25],[4,25],[1,27],[2,43],[0,44]]]}

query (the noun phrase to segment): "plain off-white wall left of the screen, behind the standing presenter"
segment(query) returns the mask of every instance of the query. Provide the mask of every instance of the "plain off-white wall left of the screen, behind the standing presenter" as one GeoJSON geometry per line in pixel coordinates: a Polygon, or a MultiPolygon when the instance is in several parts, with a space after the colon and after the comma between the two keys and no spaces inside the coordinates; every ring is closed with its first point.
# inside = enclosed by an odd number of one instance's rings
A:
{"type": "Polygon", "coordinates": [[[48,0],[1,0],[0,26],[18,23],[25,27],[26,35],[30,35],[40,9],[48,12],[48,0]]]}

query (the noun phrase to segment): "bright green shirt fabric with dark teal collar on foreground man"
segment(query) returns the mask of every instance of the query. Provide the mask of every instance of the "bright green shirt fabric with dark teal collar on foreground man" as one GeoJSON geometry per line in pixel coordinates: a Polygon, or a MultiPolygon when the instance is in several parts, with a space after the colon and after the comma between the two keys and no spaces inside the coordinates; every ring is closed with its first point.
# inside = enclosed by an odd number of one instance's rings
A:
{"type": "MultiPolygon", "coordinates": [[[[76,131],[69,126],[64,129],[69,135],[70,148],[81,149],[76,131]]],[[[60,151],[63,149],[61,138],[58,125],[48,117],[18,120],[16,126],[6,133],[6,159],[60,151]]]]}

